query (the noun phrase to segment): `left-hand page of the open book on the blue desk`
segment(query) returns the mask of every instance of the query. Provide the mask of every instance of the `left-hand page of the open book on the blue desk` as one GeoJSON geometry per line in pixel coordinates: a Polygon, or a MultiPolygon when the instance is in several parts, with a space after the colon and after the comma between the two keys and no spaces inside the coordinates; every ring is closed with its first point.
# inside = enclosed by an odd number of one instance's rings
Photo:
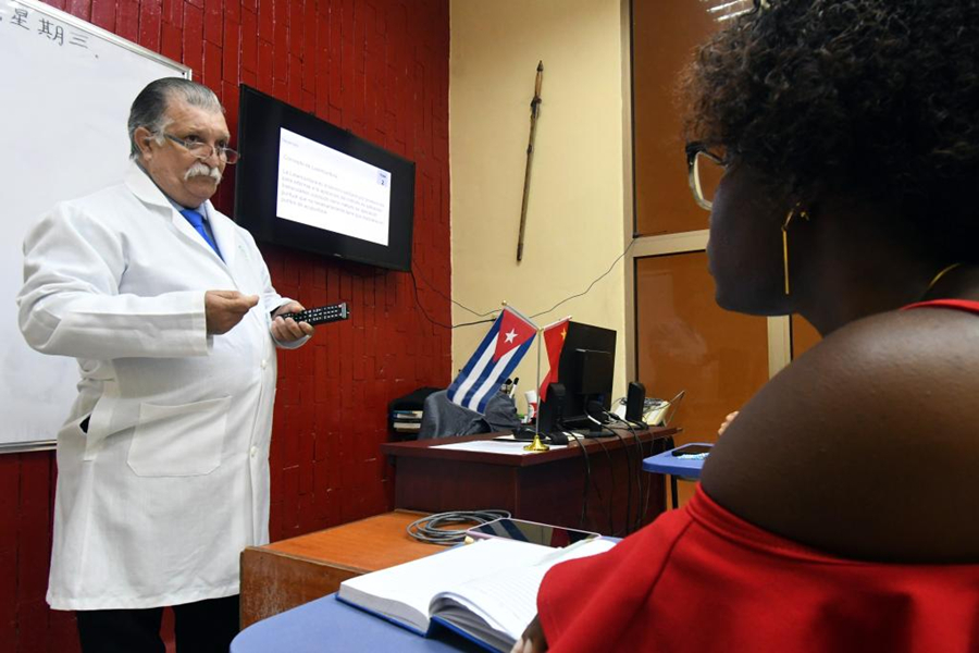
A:
{"type": "Polygon", "coordinates": [[[429,557],[340,583],[340,600],[425,632],[432,597],[459,582],[510,567],[528,568],[553,554],[548,546],[499,538],[448,549],[429,557]]]}

